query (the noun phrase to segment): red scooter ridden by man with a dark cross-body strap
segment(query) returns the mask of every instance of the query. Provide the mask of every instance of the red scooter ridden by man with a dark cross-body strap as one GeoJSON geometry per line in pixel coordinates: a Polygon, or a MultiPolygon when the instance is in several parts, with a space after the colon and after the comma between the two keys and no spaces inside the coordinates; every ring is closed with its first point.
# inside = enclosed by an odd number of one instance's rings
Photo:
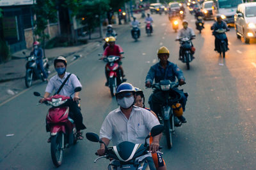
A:
{"type": "MultiPolygon", "coordinates": [[[[81,87],[74,90],[74,92],[79,91],[81,91],[81,87]]],[[[38,92],[34,92],[34,95],[42,97],[38,92]]],[[[52,106],[47,113],[46,122],[51,133],[51,158],[56,167],[61,166],[63,150],[77,143],[76,125],[74,120],[68,117],[69,108],[63,106],[68,99],[72,99],[72,97],[56,94],[47,97],[44,101],[47,106],[52,106]]]]}

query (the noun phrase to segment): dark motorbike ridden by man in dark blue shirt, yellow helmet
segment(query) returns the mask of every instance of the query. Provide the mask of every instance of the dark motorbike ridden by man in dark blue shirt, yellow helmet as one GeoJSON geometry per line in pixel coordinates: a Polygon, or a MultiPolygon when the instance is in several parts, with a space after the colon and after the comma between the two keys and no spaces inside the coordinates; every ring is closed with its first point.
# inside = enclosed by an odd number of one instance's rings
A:
{"type": "MultiPolygon", "coordinates": [[[[164,134],[166,136],[166,143],[168,148],[172,148],[172,135],[175,132],[174,119],[175,114],[173,113],[172,105],[179,103],[182,96],[177,92],[179,82],[171,82],[170,80],[161,80],[159,83],[154,83],[152,89],[155,92],[163,93],[163,103],[161,104],[161,112],[158,114],[160,124],[164,125],[164,134]]],[[[151,105],[151,103],[150,103],[151,105]]],[[[150,106],[152,108],[152,106],[150,106]]],[[[181,125],[181,123],[180,123],[181,125]]]]}

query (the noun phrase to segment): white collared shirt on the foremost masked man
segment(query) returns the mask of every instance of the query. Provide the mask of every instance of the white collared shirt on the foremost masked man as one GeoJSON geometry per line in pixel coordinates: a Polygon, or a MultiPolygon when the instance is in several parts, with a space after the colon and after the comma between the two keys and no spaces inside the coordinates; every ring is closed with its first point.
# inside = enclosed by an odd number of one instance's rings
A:
{"type": "Polygon", "coordinates": [[[123,141],[145,143],[145,138],[155,125],[159,125],[159,121],[150,111],[133,106],[127,119],[119,107],[105,118],[100,129],[100,139],[108,138],[114,146],[123,141]]]}

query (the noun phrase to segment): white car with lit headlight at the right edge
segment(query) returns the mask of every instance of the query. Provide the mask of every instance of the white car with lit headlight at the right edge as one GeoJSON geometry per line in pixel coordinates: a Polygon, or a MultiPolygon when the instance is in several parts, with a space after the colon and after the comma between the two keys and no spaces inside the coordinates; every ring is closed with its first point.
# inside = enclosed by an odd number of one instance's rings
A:
{"type": "Polygon", "coordinates": [[[256,38],[256,3],[239,4],[234,20],[237,38],[243,37],[245,43],[256,38]]]}

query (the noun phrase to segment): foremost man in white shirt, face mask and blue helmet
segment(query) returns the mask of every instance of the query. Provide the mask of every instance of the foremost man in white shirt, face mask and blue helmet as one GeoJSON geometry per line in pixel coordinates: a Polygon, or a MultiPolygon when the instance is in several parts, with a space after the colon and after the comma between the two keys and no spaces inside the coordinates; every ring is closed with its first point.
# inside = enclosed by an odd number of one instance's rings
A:
{"type": "MultiPolygon", "coordinates": [[[[114,146],[123,141],[145,143],[152,127],[159,125],[159,121],[150,111],[133,105],[134,94],[134,87],[130,83],[122,83],[116,89],[116,101],[120,107],[108,114],[100,129],[100,139],[106,146],[111,140],[114,146]]],[[[154,136],[150,143],[149,150],[153,153],[159,149],[160,138],[161,134],[154,136]]],[[[105,146],[101,143],[97,153],[104,155],[105,152],[105,146]]],[[[150,169],[155,169],[151,154],[146,159],[150,169]]]]}

